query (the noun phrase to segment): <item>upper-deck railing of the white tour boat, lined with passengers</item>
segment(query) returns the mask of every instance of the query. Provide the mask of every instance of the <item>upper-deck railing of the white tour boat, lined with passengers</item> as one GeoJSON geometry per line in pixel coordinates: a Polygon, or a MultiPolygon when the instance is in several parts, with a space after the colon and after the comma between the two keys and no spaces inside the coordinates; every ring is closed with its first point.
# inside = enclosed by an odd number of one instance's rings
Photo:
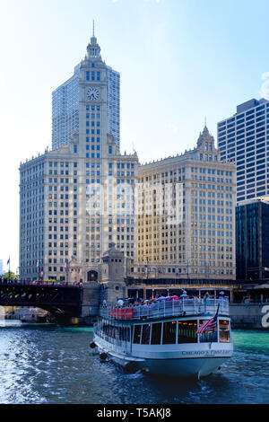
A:
{"type": "Polygon", "coordinates": [[[100,316],[103,318],[115,318],[120,320],[161,318],[169,316],[187,315],[213,315],[217,312],[220,304],[219,314],[229,315],[229,301],[226,299],[193,299],[182,298],[179,300],[163,300],[150,304],[139,304],[137,306],[118,306],[114,308],[100,308],[100,316]]]}

